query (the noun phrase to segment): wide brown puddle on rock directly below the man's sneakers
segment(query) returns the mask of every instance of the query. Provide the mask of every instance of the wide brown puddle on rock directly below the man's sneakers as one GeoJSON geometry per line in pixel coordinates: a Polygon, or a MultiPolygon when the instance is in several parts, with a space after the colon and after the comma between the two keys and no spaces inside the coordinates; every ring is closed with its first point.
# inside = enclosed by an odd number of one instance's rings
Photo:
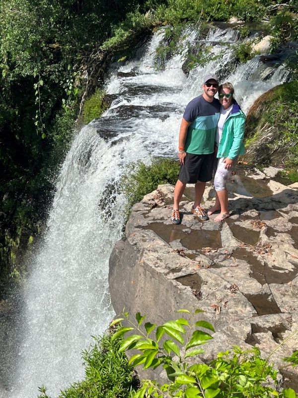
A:
{"type": "Polygon", "coordinates": [[[190,233],[183,231],[185,225],[163,224],[162,222],[153,222],[143,227],[150,229],[161,237],[165,242],[170,243],[173,240],[180,239],[182,246],[189,250],[198,250],[203,247],[222,247],[220,231],[207,231],[203,229],[191,230],[190,233]]]}

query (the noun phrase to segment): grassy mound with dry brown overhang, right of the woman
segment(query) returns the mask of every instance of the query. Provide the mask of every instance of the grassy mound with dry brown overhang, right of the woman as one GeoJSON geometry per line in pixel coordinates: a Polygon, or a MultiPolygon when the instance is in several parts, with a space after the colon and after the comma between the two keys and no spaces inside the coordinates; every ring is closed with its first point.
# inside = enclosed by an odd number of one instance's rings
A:
{"type": "Polygon", "coordinates": [[[246,118],[245,158],[256,164],[298,167],[298,81],[260,96],[246,118]]]}

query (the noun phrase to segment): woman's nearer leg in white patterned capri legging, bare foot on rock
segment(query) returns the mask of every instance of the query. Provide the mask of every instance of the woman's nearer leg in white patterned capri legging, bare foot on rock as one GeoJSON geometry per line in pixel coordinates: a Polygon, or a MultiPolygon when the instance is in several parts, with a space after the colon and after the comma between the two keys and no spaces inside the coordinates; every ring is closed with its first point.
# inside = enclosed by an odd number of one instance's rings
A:
{"type": "Polygon", "coordinates": [[[224,158],[221,158],[218,163],[217,172],[214,178],[214,187],[220,202],[221,213],[214,219],[214,221],[223,221],[229,216],[228,213],[228,192],[226,190],[226,182],[229,170],[225,168],[223,163],[224,158]]]}

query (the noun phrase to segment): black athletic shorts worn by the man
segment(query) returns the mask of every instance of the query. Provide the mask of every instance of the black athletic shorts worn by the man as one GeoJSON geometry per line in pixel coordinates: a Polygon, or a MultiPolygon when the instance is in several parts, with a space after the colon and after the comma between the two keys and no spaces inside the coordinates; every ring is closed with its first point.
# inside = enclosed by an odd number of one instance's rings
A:
{"type": "Polygon", "coordinates": [[[181,165],[179,180],[183,184],[196,184],[197,181],[207,183],[212,179],[214,153],[195,155],[186,153],[185,163],[181,165]]]}

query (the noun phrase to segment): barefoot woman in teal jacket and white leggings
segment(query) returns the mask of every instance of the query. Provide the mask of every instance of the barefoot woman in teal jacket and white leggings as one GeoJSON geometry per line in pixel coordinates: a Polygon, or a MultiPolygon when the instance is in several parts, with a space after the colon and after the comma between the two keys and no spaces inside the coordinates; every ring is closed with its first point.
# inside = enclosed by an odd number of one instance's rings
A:
{"type": "Polygon", "coordinates": [[[215,205],[208,211],[208,215],[220,210],[221,213],[214,221],[223,221],[229,217],[228,193],[226,182],[228,173],[233,169],[238,156],[244,153],[245,115],[233,98],[234,88],[231,83],[224,83],[219,87],[221,113],[216,136],[218,166],[214,178],[216,190],[215,205]]]}

